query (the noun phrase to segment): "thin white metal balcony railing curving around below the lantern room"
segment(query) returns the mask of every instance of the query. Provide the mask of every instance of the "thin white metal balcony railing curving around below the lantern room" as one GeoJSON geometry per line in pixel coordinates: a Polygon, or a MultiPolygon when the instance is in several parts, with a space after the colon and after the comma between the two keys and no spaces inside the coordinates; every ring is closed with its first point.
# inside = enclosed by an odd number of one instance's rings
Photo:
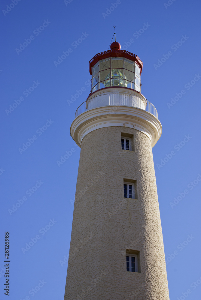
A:
{"type": "Polygon", "coordinates": [[[158,118],[158,113],[156,108],[151,102],[147,101],[145,98],[138,97],[135,95],[128,94],[106,94],[99,95],[93,98],[89,98],[87,101],[84,101],[76,110],[75,118],[81,113],[84,113],[87,110],[91,110],[97,107],[103,106],[132,106],[134,108],[140,108],[148,113],[151,113],[156,118],[158,118]]]}

